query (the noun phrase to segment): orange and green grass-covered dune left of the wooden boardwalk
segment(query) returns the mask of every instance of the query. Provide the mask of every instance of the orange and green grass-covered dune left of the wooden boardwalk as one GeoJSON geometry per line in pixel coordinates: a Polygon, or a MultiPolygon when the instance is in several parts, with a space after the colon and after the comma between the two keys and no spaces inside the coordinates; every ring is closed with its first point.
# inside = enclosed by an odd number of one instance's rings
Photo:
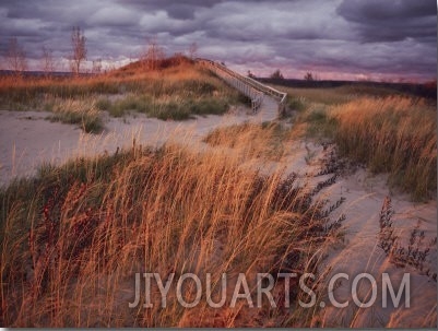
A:
{"type": "Polygon", "coordinates": [[[0,78],[0,108],[7,110],[51,110],[59,101],[69,108],[72,101],[96,99],[98,109],[115,117],[140,111],[164,120],[221,115],[244,102],[237,91],[188,60],[153,71],[128,66],[90,76],[0,78]]]}

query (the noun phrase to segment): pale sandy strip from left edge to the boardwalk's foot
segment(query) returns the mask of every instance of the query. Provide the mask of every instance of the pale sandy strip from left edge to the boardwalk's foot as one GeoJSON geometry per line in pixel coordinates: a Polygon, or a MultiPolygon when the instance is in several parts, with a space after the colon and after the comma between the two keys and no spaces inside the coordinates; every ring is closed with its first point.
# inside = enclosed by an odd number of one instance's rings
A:
{"type": "Polygon", "coordinates": [[[225,116],[205,116],[186,121],[163,121],[142,114],[120,118],[106,118],[100,134],[87,134],[71,125],[46,120],[49,113],[0,110],[0,186],[15,176],[34,175],[43,163],[60,164],[71,156],[115,152],[129,146],[133,139],[139,144],[162,144],[169,137],[177,141],[198,139],[220,126],[262,122],[276,117],[276,104],[265,98],[261,111],[248,115],[237,108],[225,116]]]}

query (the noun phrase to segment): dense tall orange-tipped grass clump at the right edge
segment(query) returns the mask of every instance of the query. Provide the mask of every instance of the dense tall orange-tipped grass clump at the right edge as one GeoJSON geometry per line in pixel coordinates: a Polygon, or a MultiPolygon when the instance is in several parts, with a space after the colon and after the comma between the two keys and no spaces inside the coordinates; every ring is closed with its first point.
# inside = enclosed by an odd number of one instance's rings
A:
{"type": "Polygon", "coordinates": [[[423,101],[401,96],[359,98],[330,113],[340,152],[371,172],[389,173],[390,184],[414,199],[436,197],[436,116],[423,101]]]}

